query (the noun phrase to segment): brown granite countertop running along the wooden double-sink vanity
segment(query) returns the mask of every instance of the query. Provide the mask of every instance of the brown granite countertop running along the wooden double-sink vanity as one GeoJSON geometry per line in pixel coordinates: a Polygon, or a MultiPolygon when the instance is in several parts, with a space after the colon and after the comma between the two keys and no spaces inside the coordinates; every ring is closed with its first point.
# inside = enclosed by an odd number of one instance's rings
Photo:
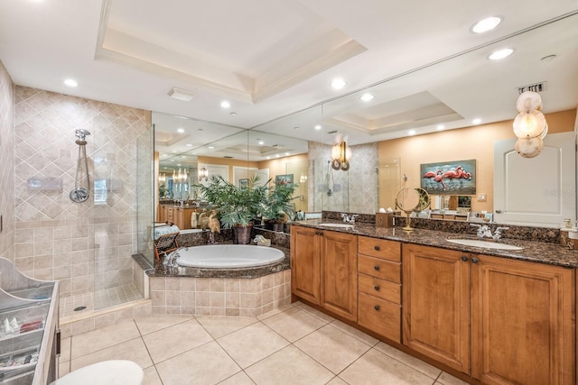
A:
{"type": "MultiPolygon", "coordinates": [[[[525,241],[519,239],[506,238],[499,240],[499,243],[508,243],[518,247],[522,250],[498,250],[489,248],[480,248],[474,246],[465,246],[456,243],[447,242],[446,239],[479,239],[483,241],[493,242],[489,238],[477,238],[474,234],[459,234],[448,233],[443,231],[414,229],[407,232],[401,227],[376,227],[371,224],[356,223],[353,228],[339,228],[327,227],[320,225],[319,220],[307,221],[307,223],[294,223],[294,225],[301,225],[305,227],[314,227],[326,231],[336,231],[348,234],[364,235],[380,239],[388,239],[392,241],[399,241],[404,243],[416,243],[426,246],[441,247],[449,250],[457,250],[461,252],[473,252],[478,254],[492,255],[495,257],[509,258],[521,261],[534,261],[539,263],[546,263],[565,268],[578,267],[578,251],[568,250],[568,248],[560,245],[560,243],[545,243],[525,241]]],[[[324,221],[325,223],[329,221],[324,221]]]]}

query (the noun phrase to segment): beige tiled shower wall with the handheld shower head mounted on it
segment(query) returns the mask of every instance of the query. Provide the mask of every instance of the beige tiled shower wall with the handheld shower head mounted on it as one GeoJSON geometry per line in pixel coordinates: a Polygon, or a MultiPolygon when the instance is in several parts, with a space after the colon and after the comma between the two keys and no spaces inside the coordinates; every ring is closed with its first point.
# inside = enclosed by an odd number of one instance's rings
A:
{"type": "MultiPolygon", "coordinates": [[[[15,87],[15,263],[41,280],[60,280],[61,296],[132,281],[137,250],[137,144],[150,113],[123,105],[15,87]],[[88,130],[91,188],[114,181],[106,203],[70,200],[79,145],[88,130]],[[29,179],[61,180],[61,189],[29,188],[29,179]]],[[[150,183],[150,181],[148,181],[150,183]]]]}

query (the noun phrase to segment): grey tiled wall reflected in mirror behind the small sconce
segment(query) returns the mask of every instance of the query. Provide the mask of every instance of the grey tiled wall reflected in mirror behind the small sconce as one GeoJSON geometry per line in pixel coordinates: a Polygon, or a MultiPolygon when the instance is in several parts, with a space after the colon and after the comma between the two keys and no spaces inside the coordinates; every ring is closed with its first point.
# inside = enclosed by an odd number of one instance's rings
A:
{"type": "Polygon", "coordinates": [[[331,146],[309,142],[309,211],[375,214],[377,207],[378,143],[351,146],[350,170],[332,170],[331,146]],[[331,195],[328,189],[331,187],[331,195]]]}

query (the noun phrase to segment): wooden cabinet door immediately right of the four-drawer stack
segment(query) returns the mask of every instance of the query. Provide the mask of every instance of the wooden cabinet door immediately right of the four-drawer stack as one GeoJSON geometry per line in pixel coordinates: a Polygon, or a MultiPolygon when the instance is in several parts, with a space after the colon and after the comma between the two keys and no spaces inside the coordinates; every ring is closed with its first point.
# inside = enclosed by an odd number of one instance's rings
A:
{"type": "Polygon", "coordinates": [[[403,247],[404,344],[470,373],[469,258],[417,244],[403,247]]]}

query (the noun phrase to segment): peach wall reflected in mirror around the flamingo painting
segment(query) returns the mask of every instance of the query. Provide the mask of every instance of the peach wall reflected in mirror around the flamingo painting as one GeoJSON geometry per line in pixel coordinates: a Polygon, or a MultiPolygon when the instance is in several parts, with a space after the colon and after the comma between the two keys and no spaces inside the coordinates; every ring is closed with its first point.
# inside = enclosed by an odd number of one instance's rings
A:
{"type": "MultiPolygon", "coordinates": [[[[513,113],[515,115],[515,111],[513,113]]],[[[576,110],[548,114],[549,133],[573,131],[576,110]]],[[[487,195],[486,202],[472,199],[473,211],[492,211],[494,179],[494,142],[516,138],[512,131],[512,120],[495,124],[481,124],[460,130],[441,133],[429,133],[378,143],[379,159],[396,158],[401,160],[401,175],[407,175],[407,181],[401,180],[401,188],[420,187],[420,164],[452,160],[476,160],[476,191],[487,195]]],[[[391,202],[393,197],[379,197],[379,202],[391,202]]],[[[391,203],[387,204],[390,206],[391,203]]]]}

